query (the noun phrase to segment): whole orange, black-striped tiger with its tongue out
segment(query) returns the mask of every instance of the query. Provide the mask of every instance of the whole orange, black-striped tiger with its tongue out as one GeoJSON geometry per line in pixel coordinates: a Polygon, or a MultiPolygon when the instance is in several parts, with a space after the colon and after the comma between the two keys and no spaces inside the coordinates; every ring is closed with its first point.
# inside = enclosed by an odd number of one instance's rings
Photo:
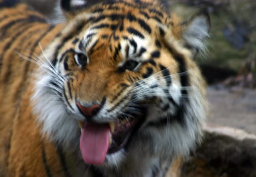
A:
{"type": "Polygon", "coordinates": [[[154,0],[0,1],[0,176],[169,176],[202,141],[210,19],[154,0]]]}

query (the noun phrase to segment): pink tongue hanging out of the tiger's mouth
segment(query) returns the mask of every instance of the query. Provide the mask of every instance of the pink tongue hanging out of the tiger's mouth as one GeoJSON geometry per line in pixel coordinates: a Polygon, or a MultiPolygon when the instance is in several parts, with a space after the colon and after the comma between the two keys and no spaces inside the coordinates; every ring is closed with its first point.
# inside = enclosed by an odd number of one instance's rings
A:
{"type": "Polygon", "coordinates": [[[99,165],[105,160],[110,128],[108,124],[85,123],[80,150],[86,163],[99,165]]]}

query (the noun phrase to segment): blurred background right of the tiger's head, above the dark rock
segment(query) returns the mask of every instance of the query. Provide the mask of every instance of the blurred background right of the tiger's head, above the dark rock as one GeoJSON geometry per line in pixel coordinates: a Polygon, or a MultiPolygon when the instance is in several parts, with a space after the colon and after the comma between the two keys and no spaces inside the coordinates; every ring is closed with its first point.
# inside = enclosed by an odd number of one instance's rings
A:
{"type": "Polygon", "coordinates": [[[256,1],[171,2],[185,19],[201,9],[211,17],[208,51],[196,59],[209,84],[208,123],[256,134],[256,1]]]}

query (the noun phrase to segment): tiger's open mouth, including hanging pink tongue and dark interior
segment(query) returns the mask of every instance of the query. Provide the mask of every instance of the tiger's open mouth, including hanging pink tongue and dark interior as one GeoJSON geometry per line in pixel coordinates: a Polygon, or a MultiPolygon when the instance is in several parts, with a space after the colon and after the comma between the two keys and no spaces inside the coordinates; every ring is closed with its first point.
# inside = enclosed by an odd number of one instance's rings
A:
{"type": "Polygon", "coordinates": [[[84,161],[99,165],[104,162],[107,154],[126,147],[144,117],[145,114],[136,114],[109,123],[79,122],[80,150],[84,161]]]}

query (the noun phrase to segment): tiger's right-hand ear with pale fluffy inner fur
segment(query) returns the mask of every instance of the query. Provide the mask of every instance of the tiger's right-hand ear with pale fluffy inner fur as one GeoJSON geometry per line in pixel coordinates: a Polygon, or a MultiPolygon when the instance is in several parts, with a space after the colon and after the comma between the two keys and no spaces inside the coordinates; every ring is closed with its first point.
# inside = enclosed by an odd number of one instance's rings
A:
{"type": "Polygon", "coordinates": [[[195,51],[203,50],[205,45],[203,40],[209,37],[210,17],[207,12],[199,12],[188,21],[181,24],[181,39],[184,46],[195,51]]]}

